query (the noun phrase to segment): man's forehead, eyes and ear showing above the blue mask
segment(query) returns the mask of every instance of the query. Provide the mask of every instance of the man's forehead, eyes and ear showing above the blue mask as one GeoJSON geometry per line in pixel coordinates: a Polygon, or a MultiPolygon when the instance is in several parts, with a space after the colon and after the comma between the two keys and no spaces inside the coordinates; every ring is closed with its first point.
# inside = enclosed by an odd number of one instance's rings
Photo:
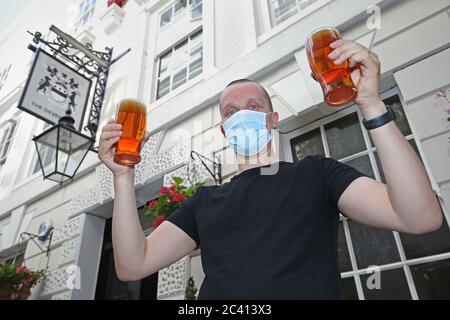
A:
{"type": "MultiPolygon", "coordinates": [[[[222,123],[240,110],[272,112],[264,91],[257,84],[251,82],[234,84],[222,93],[220,99],[222,123]]],[[[271,130],[277,126],[278,114],[273,112],[267,117],[267,129],[271,130]]],[[[224,133],[223,128],[222,133],[224,133]]]]}

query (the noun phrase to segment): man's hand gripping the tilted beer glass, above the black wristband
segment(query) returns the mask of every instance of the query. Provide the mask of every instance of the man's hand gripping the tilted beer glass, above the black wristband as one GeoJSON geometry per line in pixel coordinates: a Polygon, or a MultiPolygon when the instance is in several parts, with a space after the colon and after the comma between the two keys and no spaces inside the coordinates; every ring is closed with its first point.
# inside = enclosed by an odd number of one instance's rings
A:
{"type": "MultiPolygon", "coordinates": [[[[328,55],[338,65],[349,60],[353,83],[358,89],[355,102],[363,113],[380,106],[380,70],[378,56],[354,41],[340,39],[330,45],[334,50],[328,55]]],[[[385,110],[384,110],[385,111],[385,110]]]]}

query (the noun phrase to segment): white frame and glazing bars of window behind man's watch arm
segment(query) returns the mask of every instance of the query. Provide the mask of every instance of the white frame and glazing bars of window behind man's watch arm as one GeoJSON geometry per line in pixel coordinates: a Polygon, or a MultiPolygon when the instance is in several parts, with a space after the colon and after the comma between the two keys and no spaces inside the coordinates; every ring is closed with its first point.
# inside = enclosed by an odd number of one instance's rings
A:
{"type": "MultiPolygon", "coordinates": [[[[405,139],[407,139],[408,141],[414,141],[416,143],[417,149],[419,151],[419,154],[422,158],[422,161],[424,163],[424,166],[426,168],[427,174],[430,177],[430,180],[434,181],[432,172],[429,170],[429,165],[427,163],[427,159],[424,157],[424,152],[422,149],[422,145],[419,139],[417,139],[417,134],[415,133],[413,124],[411,123],[409,117],[408,117],[408,110],[406,109],[406,104],[405,101],[398,89],[398,87],[394,87],[391,89],[386,90],[385,92],[382,92],[380,94],[380,98],[384,101],[390,97],[394,97],[398,95],[399,97],[399,101],[402,105],[405,117],[406,117],[406,121],[408,122],[408,125],[411,129],[411,134],[406,135],[405,139]]],[[[374,152],[376,151],[375,146],[371,145],[370,139],[369,139],[369,132],[363,127],[362,125],[362,114],[358,108],[358,106],[356,106],[355,104],[335,112],[334,114],[331,114],[329,116],[325,116],[324,118],[321,118],[307,126],[304,126],[302,128],[299,128],[295,131],[292,131],[288,134],[285,135],[285,137],[283,138],[284,140],[282,141],[283,146],[284,146],[284,156],[286,161],[293,161],[293,155],[292,155],[292,148],[291,148],[291,141],[293,139],[295,139],[298,136],[301,136],[303,134],[306,134],[308,132],[311,132],[313,130],[316,130],[317,128],[320,128],[320,132],[321,132],[321,137],[322,137],[322,144],[323,144],[323,148],[325,151],[325,155],[326,156],[330,156],[330,150],[328,148],[328,142],[326,141],[326,135],[325,135],[325,125],[328,123],[331,123],[333,121],[336,121],[338,119],[341,119],[349,114],[352,113],[357,113],[358,115],[358,120],[359,120],[359,124],[361,126],[361,130],[362,130],[362,134],[363,134],[363,139],[365,142],[365,146],[366,149],[362,150],[358,153],[349,155],[347,157],[344,157],[342,159],[339,159],[339,161],[349,161],[352,159],[356,159],[359,158],[363,155],[369,155],[369,161],[375,176],[375,179],[378,181],[381,181],[381,177],[380,177],[380,173],[378,170],[378,165],[376,163],[375,160],[375,156],[374,156],[374,152]]],[[[445,208],[443,207],[443,210],[445,210],[445,208]]],[[[446,215],[447,217],[447,215],[446,215]]],[[[450,221],[449,219],[447,220],[447,224],[450,226],[450,221]]],[[[343,223],[343,228],[344,228],[344,235],[345,235],[345,240],[347,242],[347,250],[348,250],[348,254],[350,256],[350,262],[352,265],[352,270],[351,271],[346,271],[346,272],[341,272],[341,279],[343,278],[354,278],[355,281],[355,285],[356,285],[356,291],[358,294],[358,298],[360,300],[365,299],[364,297],[364,292],[363,292],[363,285],[364,283],[362,283],[362,280],[360,278],[361,275],[366,274],[368,268],[358,268],[357,266],[357,262],[356,262],[356,256],[355,256],[355,252],[354,252],[354,248],[353,248],[353,242],[351,239],[351,235],[350,235],[350,229],[349,229],[349,225],[348,225],[348,218],[340,215],[340,221],[343,223]]],[[[405,277],[406,277],[406,281],[408,284],[408,287],[410,289],[410,293],[411,293],[411,297],[413,300],[418,300],[419,296],[415,287],[415,283],[412,277],[412,273],[410,270],[410,266],[413,265],[417,265],[417,264],[422,264],[422,263],[427,263],[427,262],[434,262],[434,261],[439,261],[439,260],[446,260],[450,258],[450,252],[445,252],[445,253],[439,253],[439,254],[434,254],[434,255],[428,255],[428,256],[423,256],[423,257],[419,257],[419,258],[412,258],[412,259],[408,259],[406,257],[403,245],[402,245],[402,241],[400,238],[400,234],[396,231],[392,231],[393,232],[393,237],[396,243],[396,247],[400,256],[400,261],[398,262],[393,262],[393,263],[388,263],[388,264],[384,264],[384,265],[379,265],[379,270],[380,271],[385,271],[385,270],[391,270],[391,269],[400,269],[402,268],[404,273],[405,273],[405,277]]]]}

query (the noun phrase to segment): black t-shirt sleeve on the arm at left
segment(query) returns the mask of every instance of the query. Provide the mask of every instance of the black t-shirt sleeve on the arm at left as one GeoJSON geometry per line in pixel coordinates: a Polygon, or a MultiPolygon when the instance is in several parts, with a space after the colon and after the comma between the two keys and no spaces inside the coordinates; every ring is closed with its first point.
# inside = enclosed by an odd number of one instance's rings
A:
{"type": "Polygon", "coordinates": [[[180,208],[167,217],[167,221],[172,222],[178,228],[186,232],[200,246],[200,239],[197,232],[197,223],[195,221],[195,202],[198,197],[198,191],[191,198],[183,202],[180,208]]]}

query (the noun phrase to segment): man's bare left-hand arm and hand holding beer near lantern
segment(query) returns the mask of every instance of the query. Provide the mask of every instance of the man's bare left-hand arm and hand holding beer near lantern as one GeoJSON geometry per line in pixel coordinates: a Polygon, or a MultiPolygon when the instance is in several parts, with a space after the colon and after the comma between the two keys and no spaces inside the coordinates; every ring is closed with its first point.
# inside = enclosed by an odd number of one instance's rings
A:
{"type": "MultiPolygon", "coordinates": [[[[98,157],[114,176],[112,239],[117,276],[123,281],[133,281],[176,262],[194,250],[196,244],[184,231],[167,221],[145,237],[136,208],[134,169],[113,161],[114,144],[122,135],[121,129],[121,125],[113,120],[103,128],[98,157]]],[[[144,142],[148,138],[146,133],[144,142]]]]}

